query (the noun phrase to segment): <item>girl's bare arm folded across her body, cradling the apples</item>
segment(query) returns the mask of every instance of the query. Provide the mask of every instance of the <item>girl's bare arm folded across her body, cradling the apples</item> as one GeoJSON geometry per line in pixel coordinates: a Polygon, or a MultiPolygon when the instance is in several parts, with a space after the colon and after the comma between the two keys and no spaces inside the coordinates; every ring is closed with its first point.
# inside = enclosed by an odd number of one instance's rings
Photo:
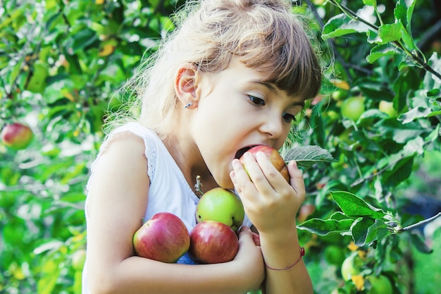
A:
{"type": "Polygon", "coordinates": [[[94,166],[89,194],[92,293],[246,293],[259,286],[261,252],[245,232],[236,258],[224,264],[165,264],[135,256],[132,236],[145,214],[148,192],[144,142],[132,134],[116,137],[94,166]]]}

